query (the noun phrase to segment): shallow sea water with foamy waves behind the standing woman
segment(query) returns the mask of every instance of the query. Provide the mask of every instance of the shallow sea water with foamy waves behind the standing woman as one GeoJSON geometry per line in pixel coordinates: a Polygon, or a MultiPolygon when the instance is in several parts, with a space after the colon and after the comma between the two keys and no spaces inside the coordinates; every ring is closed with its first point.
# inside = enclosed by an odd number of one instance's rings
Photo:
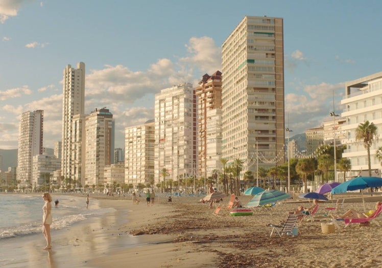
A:
{"type": "MultiPolygon", "coordinates": [[[[52,230],[60,230],[87,218],[112,212],[113,208],[100,208],[97,199],[91,199],[86,209],[86,197],[75,195],[52,195],[52,230]],[[58,207],[54,200],[58,199],[58,207]]],[[[0,241],[18,238],[42,230],[42,193],[0,194],[0,241]]]]}

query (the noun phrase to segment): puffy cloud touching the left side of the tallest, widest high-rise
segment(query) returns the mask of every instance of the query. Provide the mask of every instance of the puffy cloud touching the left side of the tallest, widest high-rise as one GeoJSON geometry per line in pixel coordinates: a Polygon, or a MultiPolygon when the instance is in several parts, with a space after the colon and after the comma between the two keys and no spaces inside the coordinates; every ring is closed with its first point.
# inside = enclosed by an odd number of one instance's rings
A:
{"type": "Polygon", "coordinates": [[[198,68],[201,73],[212,74],[222,70],[222,49],[215,46],[211,37],[192,37],[185,44],[189,55],[179,59],[180,63],[198,68]]]}

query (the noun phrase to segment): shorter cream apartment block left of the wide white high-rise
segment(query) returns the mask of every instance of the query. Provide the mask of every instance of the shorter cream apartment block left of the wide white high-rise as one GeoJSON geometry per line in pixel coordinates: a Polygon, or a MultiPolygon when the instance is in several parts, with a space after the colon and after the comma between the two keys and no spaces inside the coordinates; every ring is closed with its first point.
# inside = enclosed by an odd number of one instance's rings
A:
{"type": "Polygon", "coordinates": [[[148,184],[154,178],[154,120],[125,128],[125,183],[148,184]]]}

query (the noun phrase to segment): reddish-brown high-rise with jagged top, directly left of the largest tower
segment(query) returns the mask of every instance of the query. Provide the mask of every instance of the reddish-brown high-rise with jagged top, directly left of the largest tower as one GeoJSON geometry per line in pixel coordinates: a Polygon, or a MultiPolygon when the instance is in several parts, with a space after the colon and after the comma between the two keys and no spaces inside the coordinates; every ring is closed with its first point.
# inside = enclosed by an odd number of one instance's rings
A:
{"type": "Polygon", "coordinates": [[[195,94],[198,97],[199,173],[206,178],[222,166],[222,73],[203,75],[195,94]]]}

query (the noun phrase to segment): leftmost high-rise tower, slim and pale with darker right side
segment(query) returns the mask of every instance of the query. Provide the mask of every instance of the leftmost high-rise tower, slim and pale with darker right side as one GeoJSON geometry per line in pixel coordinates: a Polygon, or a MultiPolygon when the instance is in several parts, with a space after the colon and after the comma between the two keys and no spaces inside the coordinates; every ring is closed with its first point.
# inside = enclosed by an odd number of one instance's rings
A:
{"type": "Polygon", "coordinates": [[[42,154],[43,110],[27,111],[21,115],[18,129],[17,182],[19,188],[32,187],[33,157],[42,154]]]}

